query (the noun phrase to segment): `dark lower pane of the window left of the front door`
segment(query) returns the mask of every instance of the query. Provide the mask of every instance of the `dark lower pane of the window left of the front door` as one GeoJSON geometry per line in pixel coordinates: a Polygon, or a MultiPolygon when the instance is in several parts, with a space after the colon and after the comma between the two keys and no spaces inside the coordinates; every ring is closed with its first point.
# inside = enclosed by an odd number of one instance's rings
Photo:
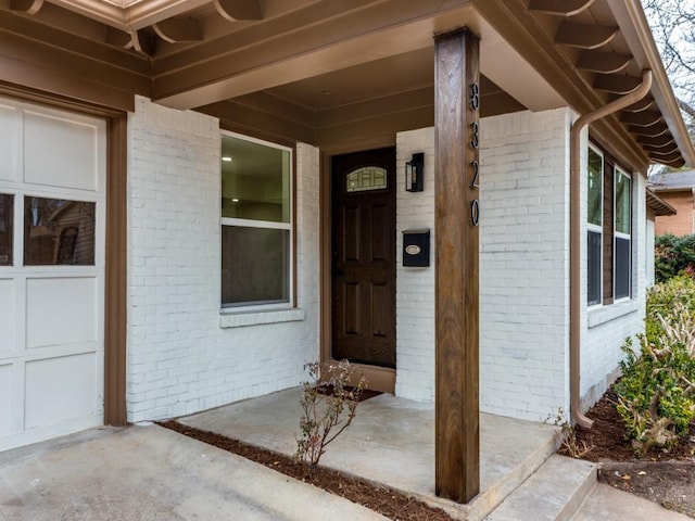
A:
{"type": "Polygon", "coordinates": [[[289,302],[290,232],[222,227],[222,304],[289,302]]]}

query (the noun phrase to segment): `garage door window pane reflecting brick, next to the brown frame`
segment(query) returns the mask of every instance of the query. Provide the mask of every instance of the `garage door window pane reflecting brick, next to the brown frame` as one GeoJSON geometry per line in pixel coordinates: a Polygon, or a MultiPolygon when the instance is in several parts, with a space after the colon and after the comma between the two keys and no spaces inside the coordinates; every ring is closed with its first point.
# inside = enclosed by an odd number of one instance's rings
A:
{"type": "Polygon", "coordinates": [[[26,196],[24,265],[94,265],[94,203],[26,196]]]}

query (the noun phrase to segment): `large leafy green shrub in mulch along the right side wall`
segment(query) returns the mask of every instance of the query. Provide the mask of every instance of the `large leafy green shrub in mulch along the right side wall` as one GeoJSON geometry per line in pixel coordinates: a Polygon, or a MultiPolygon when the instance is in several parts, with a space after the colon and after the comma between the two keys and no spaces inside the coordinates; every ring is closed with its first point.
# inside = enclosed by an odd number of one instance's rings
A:
{"type": "Polygon", "coordinates": [[[677,277],[647,295],[640,350],[622,346],[617,410],[634,449],[670,447],[695,420],[695,281],[677,277]]]}

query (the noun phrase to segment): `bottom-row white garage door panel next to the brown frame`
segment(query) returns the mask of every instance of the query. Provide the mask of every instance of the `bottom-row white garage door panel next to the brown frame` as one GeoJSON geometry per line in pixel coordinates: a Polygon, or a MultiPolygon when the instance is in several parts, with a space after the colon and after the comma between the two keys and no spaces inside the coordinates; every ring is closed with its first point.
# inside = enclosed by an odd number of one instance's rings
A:
{"type": "Polygon", "coordinates": [[[25,429],[94,416],[98,412],[96,365],[96,353],[28,361],[25,365],[25,429]]]}

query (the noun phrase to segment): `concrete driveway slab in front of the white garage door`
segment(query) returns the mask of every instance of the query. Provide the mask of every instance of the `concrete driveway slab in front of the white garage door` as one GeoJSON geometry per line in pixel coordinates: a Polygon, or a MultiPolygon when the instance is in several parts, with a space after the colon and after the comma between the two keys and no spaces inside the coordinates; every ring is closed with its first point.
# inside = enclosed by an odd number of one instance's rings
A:
{"type": "Polygon", "coordinates": [[[101,429],[0,453],[3,521],[386,518],[173,431],[101,429]]]}

